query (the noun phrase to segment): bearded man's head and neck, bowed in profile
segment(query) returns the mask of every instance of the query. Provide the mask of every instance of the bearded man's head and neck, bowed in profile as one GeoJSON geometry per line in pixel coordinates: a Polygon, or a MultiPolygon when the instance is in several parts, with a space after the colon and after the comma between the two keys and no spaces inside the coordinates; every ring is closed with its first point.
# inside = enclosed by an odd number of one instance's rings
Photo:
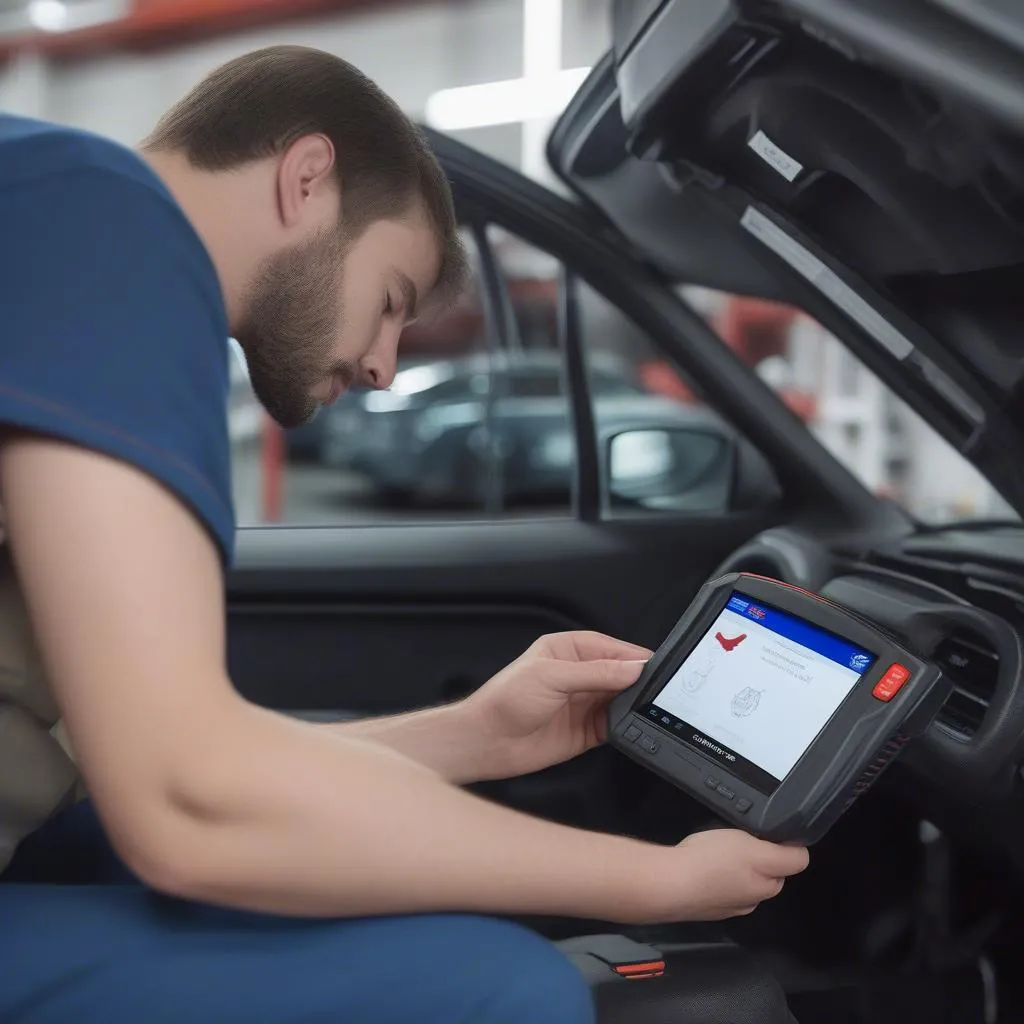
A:
{"type": "Polygon", "coordinates": [[[253,388],[283,426],[351,384],[388,387],[402,328],[462,285],[443,171],[340,57],[275,46],[232,60],[142,148],[206,242],[253,388]]]}

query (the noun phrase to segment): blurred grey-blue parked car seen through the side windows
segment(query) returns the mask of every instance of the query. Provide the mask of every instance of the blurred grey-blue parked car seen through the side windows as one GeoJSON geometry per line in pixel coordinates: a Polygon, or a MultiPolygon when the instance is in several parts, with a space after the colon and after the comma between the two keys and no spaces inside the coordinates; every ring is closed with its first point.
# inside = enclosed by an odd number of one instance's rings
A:
{"type": "MultiPolygon", "coordinates": [[[[599,436],[648,431],[620,446],[621,471],[629,473],[631,451],[640,475],[643,467],[658,476],[717,466],[686,500],[720,502],[730,428],[705,408],[647,392],[626,360],[598,353],[588,369],[599,436]]],[[[403,368],[389,390],[352,392],[324,411],[317,458],[365,477],[389,503],[486,507],[490,496],[505,507],[564,504],[577,445],[563,373],[559,353],[546,350],[403,368]]]]}

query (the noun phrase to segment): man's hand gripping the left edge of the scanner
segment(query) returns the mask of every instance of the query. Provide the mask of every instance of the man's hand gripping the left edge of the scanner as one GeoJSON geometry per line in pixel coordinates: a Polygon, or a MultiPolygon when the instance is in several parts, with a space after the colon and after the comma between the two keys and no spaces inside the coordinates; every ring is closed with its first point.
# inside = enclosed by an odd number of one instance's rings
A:
{"type": "Polygon", "coordinates": [[[608,702],[651,652],[600,633],[541,637],[465,701],[493,752],[490,777],[540,771],[602,743],[608,702]]]}

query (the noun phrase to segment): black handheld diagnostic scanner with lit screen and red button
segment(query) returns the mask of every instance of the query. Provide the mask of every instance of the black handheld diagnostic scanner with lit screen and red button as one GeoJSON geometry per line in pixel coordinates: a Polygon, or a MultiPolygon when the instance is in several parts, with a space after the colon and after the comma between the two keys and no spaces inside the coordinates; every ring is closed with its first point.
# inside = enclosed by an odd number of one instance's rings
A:
{"type": "Polygon", "coordinates": [[[611,702],[608,741],[729,823],[810,844],[951,689],[852,612],[733,573],[703,587],[611,702]]]}

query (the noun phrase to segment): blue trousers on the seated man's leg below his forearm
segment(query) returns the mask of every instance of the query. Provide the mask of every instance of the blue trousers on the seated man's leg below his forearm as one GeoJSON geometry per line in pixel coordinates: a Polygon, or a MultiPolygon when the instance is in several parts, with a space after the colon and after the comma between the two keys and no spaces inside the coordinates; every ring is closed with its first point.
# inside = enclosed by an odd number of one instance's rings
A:
{"type": "Polygon", "coordinates": [[[79,805],[0,879],[5,1024],[592,1024],[554,946],[465,914],[309,921],[138,884],[79,805]]]}

